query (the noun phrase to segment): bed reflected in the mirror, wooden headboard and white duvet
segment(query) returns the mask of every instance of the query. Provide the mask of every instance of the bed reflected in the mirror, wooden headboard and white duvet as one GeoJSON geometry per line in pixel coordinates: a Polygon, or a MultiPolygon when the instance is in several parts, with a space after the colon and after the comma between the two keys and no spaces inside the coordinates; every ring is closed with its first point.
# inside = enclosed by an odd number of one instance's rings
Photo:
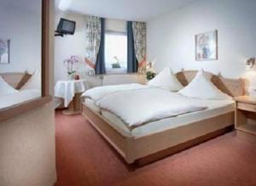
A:
{"type": "Polygon", "coordinates": [[[18,105],[22,102],[28,102],[32,99],[41,96],[41,90],[30,89],[20,90],[30,78],[32,74],[29,73],[1,73],[5,82],[11,85],[15,90],[19,90],[12,94],[0,96],[0,109],[9,108],[18,105]]]}

